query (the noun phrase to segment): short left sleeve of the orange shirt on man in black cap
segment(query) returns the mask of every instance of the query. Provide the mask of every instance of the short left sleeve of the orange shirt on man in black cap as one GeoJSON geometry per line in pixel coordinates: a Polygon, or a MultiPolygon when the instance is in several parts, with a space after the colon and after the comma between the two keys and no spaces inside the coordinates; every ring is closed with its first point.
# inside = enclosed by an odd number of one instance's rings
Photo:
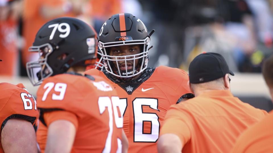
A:
{"type": "Polygon", "coordinates": [[[181,110],[177,109],[176,106],[171,106],[160,129],[160,135],[175,134],[180,138],[181,142],[183,142],[182,146],[184,146],[191,139],[191,130],[188,126],[190,122],[189,118],[181,110]]]}

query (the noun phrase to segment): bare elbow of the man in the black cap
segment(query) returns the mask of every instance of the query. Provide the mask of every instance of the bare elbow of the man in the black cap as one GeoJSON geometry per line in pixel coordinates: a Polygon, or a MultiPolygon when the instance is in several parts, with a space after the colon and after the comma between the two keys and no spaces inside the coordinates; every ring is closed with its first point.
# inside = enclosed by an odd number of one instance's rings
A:
{"type": "Polygon", "coordinates": [[[158,153],[181,153],[182,145],[179,137],[172,133],[163,134],[158,139],[158,153]]]}

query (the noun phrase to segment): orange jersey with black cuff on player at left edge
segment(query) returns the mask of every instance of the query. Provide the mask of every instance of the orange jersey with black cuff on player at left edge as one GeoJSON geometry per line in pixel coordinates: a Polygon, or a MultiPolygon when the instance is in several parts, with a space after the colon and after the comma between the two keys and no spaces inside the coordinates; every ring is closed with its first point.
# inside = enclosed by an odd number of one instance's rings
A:
{"type": "MultiPolygon", "coordinates": [[[[0,122],[1,131],[11,118],[21,118],[32,123],[36,129],[39,117],[36,101],[23,84],[0,83],[0,122]]],[[[1,135],[1,132],[0,132],[1,135]]],[[[4,152],[0,139],[0,152],[4,152]]]]}

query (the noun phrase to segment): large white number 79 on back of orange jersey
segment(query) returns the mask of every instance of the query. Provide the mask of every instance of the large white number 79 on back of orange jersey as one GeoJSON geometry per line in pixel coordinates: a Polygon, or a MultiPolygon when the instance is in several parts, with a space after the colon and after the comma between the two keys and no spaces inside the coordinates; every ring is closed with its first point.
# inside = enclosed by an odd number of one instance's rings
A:
{"type": "MultiPolygon", "coordinates": [[[[99,110],[100,114],[104,113],[107,107],[108,114],[109,114],[109,132],[106,138],[106,143],[104,146],[104,149],[102,152],[111,152],[111,141],[112,141],[112,134],[113,134],[113,113],[115,117],[115,126],[117,128],[122,128],[123,127],[123,116],[122,114],[119,116],[117,108],[119,107],[119,97],[99,97],[98,100],[98,105],[99,105],[99,110]],[[112,107],[113,104],[113,107],[112,107]]],[[[119,107],[121,108],[121,107],[119,107]]],[[[119,109],[119,112],[121,110],[119,109]]],[[[121,140],[117,138],[117,152],[121,152],[122,150],[122,145],[121,145],[121,140]]]]}

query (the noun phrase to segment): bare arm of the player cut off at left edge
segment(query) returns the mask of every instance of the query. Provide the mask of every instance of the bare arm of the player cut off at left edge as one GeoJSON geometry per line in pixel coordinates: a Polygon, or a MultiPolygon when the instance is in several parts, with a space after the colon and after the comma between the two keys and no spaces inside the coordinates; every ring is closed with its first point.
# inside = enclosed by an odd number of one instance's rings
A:
{"type": "Polygon", "coordinates": [[[22,119],[9,119],[1,132],[1,145],[4,152],[36,153],[36,135],[32,124],[22,119]]]}

